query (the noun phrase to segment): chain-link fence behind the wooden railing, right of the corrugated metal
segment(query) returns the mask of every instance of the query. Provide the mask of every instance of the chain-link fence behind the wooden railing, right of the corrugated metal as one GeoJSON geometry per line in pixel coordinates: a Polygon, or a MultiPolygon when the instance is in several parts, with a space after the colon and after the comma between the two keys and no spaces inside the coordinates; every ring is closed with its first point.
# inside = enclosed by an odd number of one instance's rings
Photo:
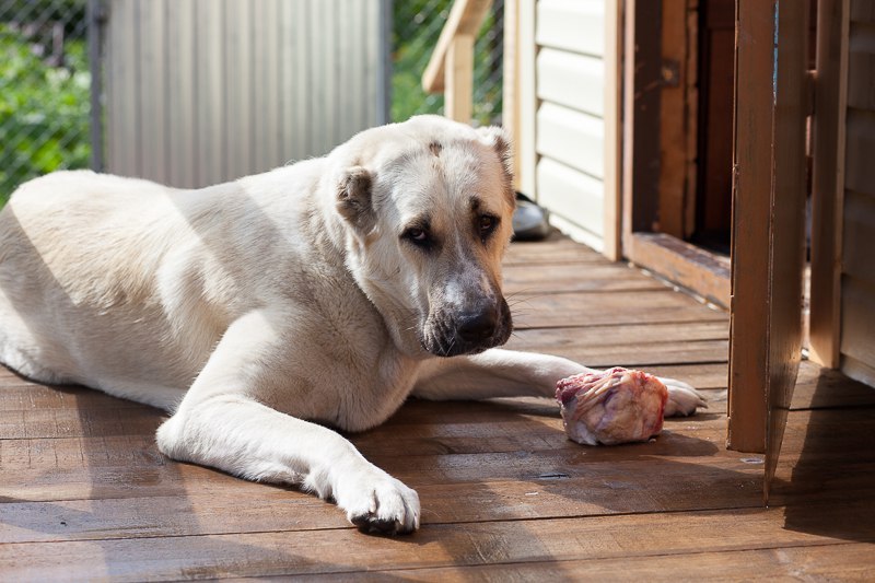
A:
{"type": "MultiPolygon", "coordinates": [[[[392,120],[443,114],[442,94],[422,91],[422,73],[450,15],[453,0],[395,0],[392,38],[392,120]]],[[[474,53],[474,121],[501,123],[504,1],[492,3],[474,53]]]]}

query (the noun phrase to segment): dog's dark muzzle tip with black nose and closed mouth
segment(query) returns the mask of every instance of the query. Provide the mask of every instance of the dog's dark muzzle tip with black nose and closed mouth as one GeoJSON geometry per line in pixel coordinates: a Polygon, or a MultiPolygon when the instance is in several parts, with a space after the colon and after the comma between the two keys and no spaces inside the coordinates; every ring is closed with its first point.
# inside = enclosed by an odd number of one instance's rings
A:
{"type": "Polygon", "coordinates": [[[505,343],[512,331],[511,310],[502,299],[486,314],[430,314],[421,328],[420,343],[435,357],[478,354],[505,343]]]}

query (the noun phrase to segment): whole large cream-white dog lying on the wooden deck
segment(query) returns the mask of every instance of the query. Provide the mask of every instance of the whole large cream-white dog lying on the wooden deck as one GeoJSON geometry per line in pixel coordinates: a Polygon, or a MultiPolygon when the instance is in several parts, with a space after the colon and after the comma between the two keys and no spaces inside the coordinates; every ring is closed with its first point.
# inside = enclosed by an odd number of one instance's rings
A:
{"type": "MultiPolygon", "coordinates": [[[[324,425],[374,427],[411,394],[552,396],[587,370],[494,348],[505,160],[500,131],[420,117],[200,190],[37,178],[0,212],[0,361],[171,411],[171,457],[412,530],[416,492],[324,425]]],[[[668,384],[667,415],[702,405],[668,384]]]]}

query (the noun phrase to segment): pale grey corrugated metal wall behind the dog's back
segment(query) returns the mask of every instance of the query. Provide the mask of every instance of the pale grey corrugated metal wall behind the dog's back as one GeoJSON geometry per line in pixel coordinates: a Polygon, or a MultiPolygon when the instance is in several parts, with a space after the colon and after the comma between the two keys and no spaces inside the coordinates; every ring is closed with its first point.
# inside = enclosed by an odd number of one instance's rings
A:
{"type": "Polygon", "coordinates": [[[386,121],[386,0],[107,0],[105,170],[196,187],[386,121]]]}

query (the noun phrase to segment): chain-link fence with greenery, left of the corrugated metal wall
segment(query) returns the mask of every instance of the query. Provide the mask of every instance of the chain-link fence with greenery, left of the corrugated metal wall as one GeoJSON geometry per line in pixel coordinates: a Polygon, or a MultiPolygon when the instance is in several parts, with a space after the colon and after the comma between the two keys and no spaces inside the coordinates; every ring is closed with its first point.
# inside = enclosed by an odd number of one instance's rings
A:
{"type": "Polygon", "coordinates": [[[0,0],[0,206],[91,163],[86,0],[0,0]]]}

